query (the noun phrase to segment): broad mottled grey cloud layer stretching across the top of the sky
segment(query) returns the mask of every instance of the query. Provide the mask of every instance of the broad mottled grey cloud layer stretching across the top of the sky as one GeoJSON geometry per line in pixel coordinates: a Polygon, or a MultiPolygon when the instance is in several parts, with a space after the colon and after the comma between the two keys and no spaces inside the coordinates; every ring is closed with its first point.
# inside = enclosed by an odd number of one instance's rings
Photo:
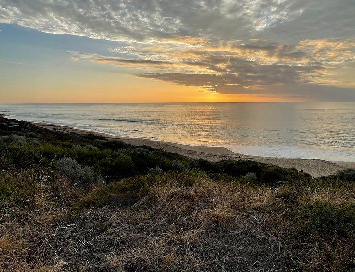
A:
{"type": "Polygon", "coordinates": [[[183,36],[295,43],[353,35],[353,0],[0,0],[0,22],[109,40],[183,36]]]}

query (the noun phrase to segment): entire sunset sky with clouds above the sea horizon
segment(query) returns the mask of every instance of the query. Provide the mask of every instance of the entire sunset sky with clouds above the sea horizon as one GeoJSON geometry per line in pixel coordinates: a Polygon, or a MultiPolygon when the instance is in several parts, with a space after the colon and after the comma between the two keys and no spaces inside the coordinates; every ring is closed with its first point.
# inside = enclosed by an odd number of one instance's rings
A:
{"type": "Polygon", "coordinates": [[[354,0],[0,0],[0,103],[355,102],[354,0]]]}

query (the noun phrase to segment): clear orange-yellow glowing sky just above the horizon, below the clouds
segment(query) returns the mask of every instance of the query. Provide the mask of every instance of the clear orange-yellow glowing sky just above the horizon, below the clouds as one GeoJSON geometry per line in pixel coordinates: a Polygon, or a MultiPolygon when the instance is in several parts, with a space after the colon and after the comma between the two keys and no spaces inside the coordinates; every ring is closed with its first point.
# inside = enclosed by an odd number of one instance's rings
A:
{"type": "MultiPolygon", "coordinates": [[[[281,96],[222,94],[203,88],[140,78],[132,75],[101,74],[86,79],[59,81],[51,78],[18,81],[12,92],[0,92],[4,103],[106,103],[106,102],[282,102],[300,99],[281,96]],[[132,84],[134,82],[134,84],[132,84]]],[[[303,100],[304,101],[304,100],[303,100]]]]}

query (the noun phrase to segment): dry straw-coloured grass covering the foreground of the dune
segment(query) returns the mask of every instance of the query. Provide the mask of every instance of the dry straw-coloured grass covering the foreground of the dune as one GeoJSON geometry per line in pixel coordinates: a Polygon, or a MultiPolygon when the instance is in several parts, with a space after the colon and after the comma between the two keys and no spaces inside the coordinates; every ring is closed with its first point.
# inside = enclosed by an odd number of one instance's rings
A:
{"type": "Polygon", "coordinates": [[[39,178],[30,209],[13,204],[1,211],[1,272],[310,268],[312,263],[294,255],[283,238],[292,223],[290,211],[317,201],[354,203],[352,186],[298,192],[215,183],[184,173],[155,177],[133,206],[94,207],[66,219],[72,200],[83,191],[56,179],[49,185],[48,178],[39,178]]]}

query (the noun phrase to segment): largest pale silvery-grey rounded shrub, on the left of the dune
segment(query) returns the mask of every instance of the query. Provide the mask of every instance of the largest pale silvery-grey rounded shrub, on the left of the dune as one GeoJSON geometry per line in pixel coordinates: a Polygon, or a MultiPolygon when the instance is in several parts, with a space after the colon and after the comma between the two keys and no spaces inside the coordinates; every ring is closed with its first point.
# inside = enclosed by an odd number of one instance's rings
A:
{"type": "Polygon", "coordinates": [[[96,184],[102,180],[89,166],[81,167],[76,160],[67,157],[57,161],[57,169],[72,182],[82,185],[96,184]]]}

